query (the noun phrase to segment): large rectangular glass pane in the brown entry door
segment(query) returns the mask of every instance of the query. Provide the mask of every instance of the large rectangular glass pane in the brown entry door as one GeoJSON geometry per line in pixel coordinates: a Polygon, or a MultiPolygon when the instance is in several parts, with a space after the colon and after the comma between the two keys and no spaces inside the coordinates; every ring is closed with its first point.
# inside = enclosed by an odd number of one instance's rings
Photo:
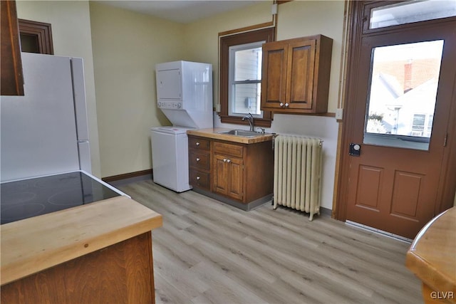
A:
{"type": "Polygon", "coordinates": [[[373,48],[365,144],[428,150],[443,41],[373,48]]]}

